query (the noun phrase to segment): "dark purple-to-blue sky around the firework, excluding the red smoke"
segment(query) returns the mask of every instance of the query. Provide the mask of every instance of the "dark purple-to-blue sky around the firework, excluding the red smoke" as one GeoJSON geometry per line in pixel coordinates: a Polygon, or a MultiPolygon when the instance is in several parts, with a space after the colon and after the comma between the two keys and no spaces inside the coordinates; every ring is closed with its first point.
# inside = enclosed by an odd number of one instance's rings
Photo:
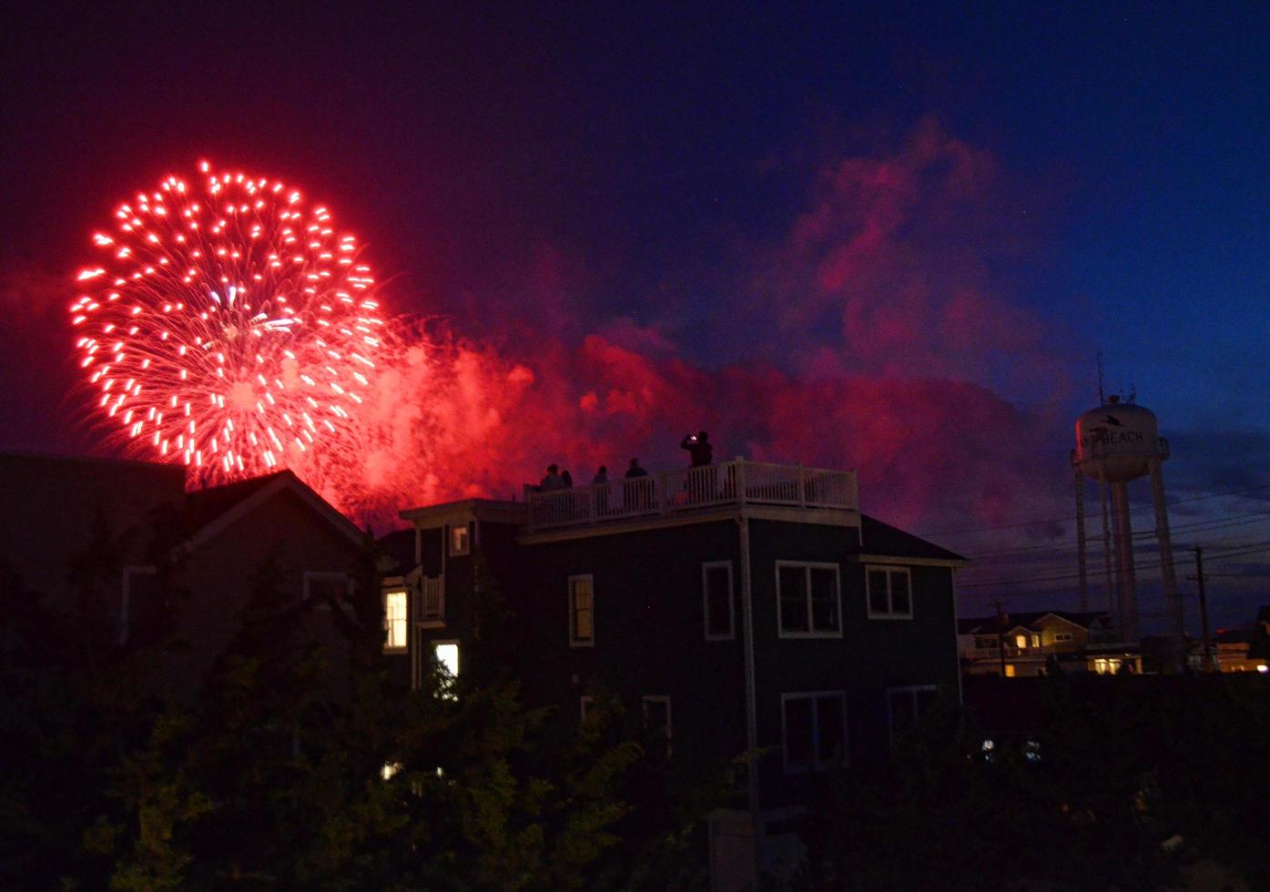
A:
{"type": "Polygon", "coordinates": [[[1270,6],[419,6],[0,14],[0,445],[83,445],[41,301],[117,200],[197,157],[328,199],[399,310],[626,320],[697,365],[804,373],[753,293],[827,171],[935,127],[992,185],[947,220],[917,202],[906,263],[950,250],[1039,331],[939,374],[1074,414],[1101,349],[1173,439],[1179,497],[1270,482],[1270,6]]]}

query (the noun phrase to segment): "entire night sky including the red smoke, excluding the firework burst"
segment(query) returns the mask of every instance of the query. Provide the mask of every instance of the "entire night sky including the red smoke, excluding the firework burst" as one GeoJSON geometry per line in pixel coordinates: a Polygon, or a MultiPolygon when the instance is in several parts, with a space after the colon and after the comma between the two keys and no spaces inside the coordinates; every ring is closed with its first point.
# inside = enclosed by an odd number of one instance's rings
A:
{"type": "Polygon", "coordinates": [[[983,554],[963,614],[1072,607],[1011,580],[1074,574],[1101,351],[1171,440],[1218,624],[1270,603],[1270,8],[461,6],[9,5],[0,448],[119,454],[74,273],[207,157],[329,203],[457,351],[399,383],[385,499],[668,467],[709,425],[983,554]]]}

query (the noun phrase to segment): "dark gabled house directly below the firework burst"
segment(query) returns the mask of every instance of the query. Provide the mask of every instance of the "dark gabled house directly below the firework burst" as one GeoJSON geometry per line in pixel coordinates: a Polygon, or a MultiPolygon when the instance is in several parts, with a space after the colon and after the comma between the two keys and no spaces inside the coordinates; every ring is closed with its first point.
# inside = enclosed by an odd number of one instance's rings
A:
{"type": "Polygon", "coordinates": [[[64,610],[84,599],[71,566],[94,562],[95,615],[121,646],[157,596],[156,565],[170,561],[182,593],[171,631],[187,645],[169,652],[165,683],[178,693],[198,684],[237,628],[269,556],[279,593],[312,601],[305,633],[331,650],[333,664],[347,659],[329,610],[348,591],[362,534],[293,473],[185,492],[179,466],[3,454],[0,483],[0,558],[64,610]]]}

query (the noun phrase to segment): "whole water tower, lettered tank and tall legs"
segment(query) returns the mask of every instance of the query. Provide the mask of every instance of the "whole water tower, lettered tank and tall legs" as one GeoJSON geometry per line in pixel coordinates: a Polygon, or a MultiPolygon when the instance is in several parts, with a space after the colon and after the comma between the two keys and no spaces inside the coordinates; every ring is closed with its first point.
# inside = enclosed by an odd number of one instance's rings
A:
{"type": "Polygon", "coordinates": [[[1151,477],[1156,506],[1156,539],[1160,544],[1160,580],[1165,591],[1168,631],[1181,638],[1182,603],[1173,575],[1173,546],[1168,537],[1168,509],[1161,463],[1168,458],[1168,440],[1160,436],[1160,423],[1151,410],[1107,397],[1097,409],[1076,419],[1076,542],[1081,580],[1081,610],[1088,610],[1088,577],[1085,541],[1085,480],[1097,481],[1102,508],[1102,561],[1106,572],[1107,613],[1120,638],[1140,637],[1138,626],[1138,581],[1133,562],[1133,525],[1129,515],[1129,482],[1151,477]],[[1107,495],[1110,492],[1110,519],[1107,495]],[[1114,541],[1114,548],[1113,548],[1114,541]],[[1113,574],[1113,554],[1114,574],[1113,574]],[[1114,584],[1113,584],[1114,579],[1114,584]]]}

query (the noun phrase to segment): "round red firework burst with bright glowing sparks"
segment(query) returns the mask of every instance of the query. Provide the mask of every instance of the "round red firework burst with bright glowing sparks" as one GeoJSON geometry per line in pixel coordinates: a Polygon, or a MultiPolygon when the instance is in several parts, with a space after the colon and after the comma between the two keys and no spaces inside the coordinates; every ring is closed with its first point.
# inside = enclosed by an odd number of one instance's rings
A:
{"type": "Polygon", "coordinates": [[[330,212],[277,180],[168,176],[119,207],[70,307],[100,415],[199,482],[290,467],[320,483],[356,448],[384,338],[370,268],[330,212]]]}

